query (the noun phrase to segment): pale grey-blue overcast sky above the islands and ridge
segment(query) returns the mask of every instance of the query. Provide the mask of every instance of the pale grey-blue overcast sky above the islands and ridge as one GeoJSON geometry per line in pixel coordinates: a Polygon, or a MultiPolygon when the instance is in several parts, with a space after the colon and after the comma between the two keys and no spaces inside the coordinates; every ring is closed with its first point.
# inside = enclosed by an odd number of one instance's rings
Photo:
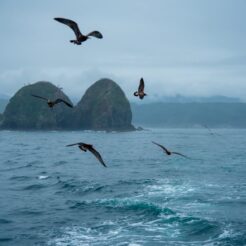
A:
{"type": "Polygon", "coordinates": [[[0,93],[45,80],[80,98],[115,80],[131,100],[140,77],[147,100],[181,94],[246,101],[245,0],[0,0],[0,93]],[[71,29],[99,30],[81,46],[71,29]]]}

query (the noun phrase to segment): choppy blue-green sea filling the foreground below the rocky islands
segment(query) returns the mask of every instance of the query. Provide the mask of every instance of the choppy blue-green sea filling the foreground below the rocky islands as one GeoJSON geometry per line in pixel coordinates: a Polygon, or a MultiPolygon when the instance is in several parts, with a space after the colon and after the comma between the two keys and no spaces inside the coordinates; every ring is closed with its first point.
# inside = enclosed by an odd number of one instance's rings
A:
{"type": "Polygon", "coordinates": [[[0,131],[0,245],[246,245],[246,130],[214,131],[0,131]]]}

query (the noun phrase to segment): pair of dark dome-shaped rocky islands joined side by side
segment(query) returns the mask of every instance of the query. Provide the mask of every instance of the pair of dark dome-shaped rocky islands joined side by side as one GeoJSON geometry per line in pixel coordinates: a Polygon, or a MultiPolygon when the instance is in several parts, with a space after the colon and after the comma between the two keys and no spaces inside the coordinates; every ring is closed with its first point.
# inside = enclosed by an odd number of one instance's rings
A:
{"type": "Polygon", "coordinates": [[[89,87],[74,108],[63,103],[49,108],[39,95],[51,100],[70,99],[50,82],[40,81],[22,87],[10,99],[0,116],[2,129],[13,130],[105,130],[131,131],[132,112],[122,89],[110,79],[101,79],[89,87]]]}

